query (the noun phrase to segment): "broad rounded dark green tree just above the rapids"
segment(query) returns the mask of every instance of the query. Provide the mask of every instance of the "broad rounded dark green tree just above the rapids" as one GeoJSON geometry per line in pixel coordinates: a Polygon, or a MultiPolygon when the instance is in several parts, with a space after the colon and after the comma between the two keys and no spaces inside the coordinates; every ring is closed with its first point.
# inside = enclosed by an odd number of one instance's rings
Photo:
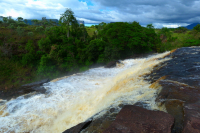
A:
{"type": "Polygon", "coordinates": [[[104,57],[112,60],[152,50],[158,37],[153,29],[142,27],[138,22],[116,22],[100,30],[97,39],[106,42],[104,57]]]}

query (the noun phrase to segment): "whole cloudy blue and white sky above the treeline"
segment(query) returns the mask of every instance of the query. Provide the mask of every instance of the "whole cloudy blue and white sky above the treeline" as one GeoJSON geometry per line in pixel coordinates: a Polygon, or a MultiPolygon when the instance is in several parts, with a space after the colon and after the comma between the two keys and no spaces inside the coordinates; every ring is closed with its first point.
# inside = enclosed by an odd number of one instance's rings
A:
{"type": "Polygon", "coordinates": [[[59,19],[67,8],[85,26],[101,22],[139,22],[176,28],[200,22],[200,0],[0,0],[0,16],[59,19]]]}

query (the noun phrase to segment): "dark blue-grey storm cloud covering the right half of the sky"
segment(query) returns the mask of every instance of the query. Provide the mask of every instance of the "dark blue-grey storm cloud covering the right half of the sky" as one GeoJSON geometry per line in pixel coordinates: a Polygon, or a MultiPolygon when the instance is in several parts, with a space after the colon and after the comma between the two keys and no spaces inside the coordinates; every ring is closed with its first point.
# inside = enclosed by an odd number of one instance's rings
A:
{"type": "MultiPolygon", "coordinates": [[[[101,8],[110,8],[120,14],[138,16],[151,23],[193,23],[200,19],[199,0],[92,0],[101,8]]],[[[136,17],[133,17],[135,19],[136,17]]],[[[127,17],[131,21],[131,18],[127,17]]],[[[137,21],[137,20],[136,20],[137,21]]]]}

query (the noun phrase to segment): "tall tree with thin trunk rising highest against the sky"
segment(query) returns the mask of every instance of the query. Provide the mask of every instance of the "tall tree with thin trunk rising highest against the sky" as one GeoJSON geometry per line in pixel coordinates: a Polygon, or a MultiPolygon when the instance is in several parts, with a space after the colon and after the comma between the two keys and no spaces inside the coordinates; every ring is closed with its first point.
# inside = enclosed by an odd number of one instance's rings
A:
{"type": "Polygon", "coordinates": [[[62,26],[67,27],[67,37],[68,38],[69,38],[69,34],[70,34],[70,25],[71,25],[72,30],[76,30],[78,27],[78,22],[77,22],[76,18],[74,17],[74,12],[70,8],[67,8],[67,10],[64,12],[64,14],[61,14],[59,23],[62,26]]]}

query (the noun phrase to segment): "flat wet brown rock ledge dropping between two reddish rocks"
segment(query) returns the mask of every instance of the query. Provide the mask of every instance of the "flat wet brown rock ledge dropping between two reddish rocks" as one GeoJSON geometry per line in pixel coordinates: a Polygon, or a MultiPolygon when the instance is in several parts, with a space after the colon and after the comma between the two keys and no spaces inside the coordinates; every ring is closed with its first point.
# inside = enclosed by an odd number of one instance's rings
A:
{"type": "Polygon", "coordinates": [[[180,133],[184,128],[183,121],[188,117],[188,114],[183,111],[184,104],[198,102],[200,90],[171,80],[160,80],[159,84],[162,86],[162,90],[156,101],[161,105],[165,104],[167,112],[175,118],[172,133],[180,133]]]}

